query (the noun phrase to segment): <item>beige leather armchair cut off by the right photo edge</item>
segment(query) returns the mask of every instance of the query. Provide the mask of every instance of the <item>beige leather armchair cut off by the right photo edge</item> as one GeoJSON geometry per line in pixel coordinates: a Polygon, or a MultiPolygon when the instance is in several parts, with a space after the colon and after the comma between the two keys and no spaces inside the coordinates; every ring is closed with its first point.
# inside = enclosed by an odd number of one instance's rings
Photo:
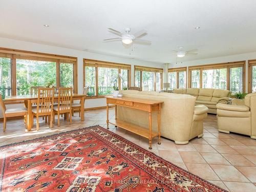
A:
{"type": "Polygon", "coordinates": [[[218,131],[240,133],[256,139],[256,93],[245,96],[244,105],[217,104],[218,131]]]}

